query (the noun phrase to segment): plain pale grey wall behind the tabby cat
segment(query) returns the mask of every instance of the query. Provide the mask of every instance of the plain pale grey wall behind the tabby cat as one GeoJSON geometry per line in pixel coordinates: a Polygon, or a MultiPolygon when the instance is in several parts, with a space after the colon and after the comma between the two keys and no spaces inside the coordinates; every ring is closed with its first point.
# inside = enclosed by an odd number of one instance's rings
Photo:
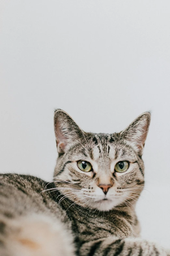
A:
{"type": "Polygon", "coordinates": [[[112,133],[152,111],[142,237],[170,244],[170,1],[1,0],[0,170],[52,179],[53,110],[112,133]]]}

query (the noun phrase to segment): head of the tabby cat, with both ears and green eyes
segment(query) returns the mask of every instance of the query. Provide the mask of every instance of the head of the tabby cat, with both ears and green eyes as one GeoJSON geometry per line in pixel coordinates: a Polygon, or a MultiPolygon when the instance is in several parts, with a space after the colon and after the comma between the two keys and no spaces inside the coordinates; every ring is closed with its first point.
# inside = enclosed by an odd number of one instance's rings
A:
{"type": "MultiPolygon", "coordinates": [[[[56,187],[78,205],[108,211],[133,205],[144,187],[142,153],[150,113],[120,133],[84,132],[63,110],[54,114],[58,159],[56,187]]],[[[61,197],[61,200],[62,198],[61,197]]]]}

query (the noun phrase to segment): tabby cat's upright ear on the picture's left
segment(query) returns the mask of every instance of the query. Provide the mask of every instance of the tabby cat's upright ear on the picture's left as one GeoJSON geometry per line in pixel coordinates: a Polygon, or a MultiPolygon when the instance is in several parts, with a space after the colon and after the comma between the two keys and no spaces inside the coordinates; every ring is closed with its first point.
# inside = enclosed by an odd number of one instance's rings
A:
{"type": "Polygon", "coordinates": [[[61,109],[54,112],[54,131],[58,153],[64,153],[70,145],[79,142],[84,135],[75,121],[61,109]]]}

